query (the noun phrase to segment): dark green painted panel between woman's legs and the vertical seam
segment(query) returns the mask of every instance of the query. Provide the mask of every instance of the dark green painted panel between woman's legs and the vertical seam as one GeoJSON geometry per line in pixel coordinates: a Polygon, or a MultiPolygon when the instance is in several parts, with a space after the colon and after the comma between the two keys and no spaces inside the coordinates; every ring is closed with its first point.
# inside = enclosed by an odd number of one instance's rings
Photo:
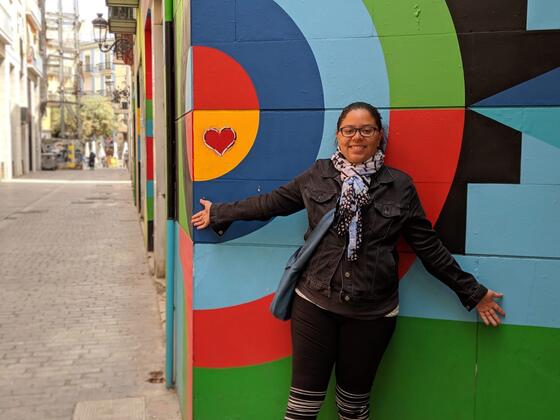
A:
{"type": "Polygon", "coordinates": [[[477,324],[399,317],[373,386],[378,420],[472,420],[477,324]]]}

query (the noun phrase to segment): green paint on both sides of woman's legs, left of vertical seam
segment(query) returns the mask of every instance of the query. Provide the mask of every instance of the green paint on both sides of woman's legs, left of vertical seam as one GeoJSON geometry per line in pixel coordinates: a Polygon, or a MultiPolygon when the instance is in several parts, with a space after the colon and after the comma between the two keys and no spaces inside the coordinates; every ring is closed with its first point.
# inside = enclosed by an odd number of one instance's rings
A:
{"type": "MultiPolygon", "coordinates": [[[[377,420],[473,420],[477,324],[400,317],[372,392],[377,420]]],[[[196,357],[196,356],[195,356],[196,357]]],[[[282,418],[290,358],[194,372],[197,420],[282,418]]],[[[336,420],[334,378],[319,420],[336,420]]]]}

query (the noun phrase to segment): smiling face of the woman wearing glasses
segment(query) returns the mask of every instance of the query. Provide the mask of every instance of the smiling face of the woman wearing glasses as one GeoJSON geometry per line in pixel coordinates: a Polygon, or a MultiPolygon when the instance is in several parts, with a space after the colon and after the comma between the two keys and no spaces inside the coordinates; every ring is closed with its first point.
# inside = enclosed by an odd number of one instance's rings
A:
{"type": "Polygon", "coordinates": [[[383,138],[383,129],[377,125],[375,118],[367,109],[354,109],[350,111],[342,120],[340,128],[336,133],[338,147],[347,161],[350,163],[362,163],[372,157],[381,139],[383,138]],[[356,129],[352,136],[348,136],[356,129]],[[360,132],[362,129],[363,131],[360,132]],[[373,133],[371,132],[373,129],[373,133]],[[364,136],[364,134],[371,134],[364,136]],[[346,134],[346,136],[344,135],[346,134]]]}

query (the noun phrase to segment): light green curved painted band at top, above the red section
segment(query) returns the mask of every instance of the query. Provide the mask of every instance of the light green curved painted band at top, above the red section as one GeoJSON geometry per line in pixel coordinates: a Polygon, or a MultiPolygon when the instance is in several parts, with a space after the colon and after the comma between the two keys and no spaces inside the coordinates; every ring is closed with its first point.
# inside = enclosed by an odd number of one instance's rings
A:
{"type": "Polygon", "coordinates": [[[443,0],[365,0],[380,37],[391,107],[462,107],[459,42],[443,0]]]}

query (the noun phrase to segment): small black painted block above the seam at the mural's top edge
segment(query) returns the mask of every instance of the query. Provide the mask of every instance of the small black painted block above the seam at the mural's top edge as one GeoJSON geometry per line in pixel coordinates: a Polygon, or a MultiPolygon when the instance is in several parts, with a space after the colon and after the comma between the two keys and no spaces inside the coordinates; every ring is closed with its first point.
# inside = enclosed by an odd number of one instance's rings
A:
{"type": "Polygon", "coordinates": [[[527,0],[447,0],[457,33],[525,31],[527,0]]]}

